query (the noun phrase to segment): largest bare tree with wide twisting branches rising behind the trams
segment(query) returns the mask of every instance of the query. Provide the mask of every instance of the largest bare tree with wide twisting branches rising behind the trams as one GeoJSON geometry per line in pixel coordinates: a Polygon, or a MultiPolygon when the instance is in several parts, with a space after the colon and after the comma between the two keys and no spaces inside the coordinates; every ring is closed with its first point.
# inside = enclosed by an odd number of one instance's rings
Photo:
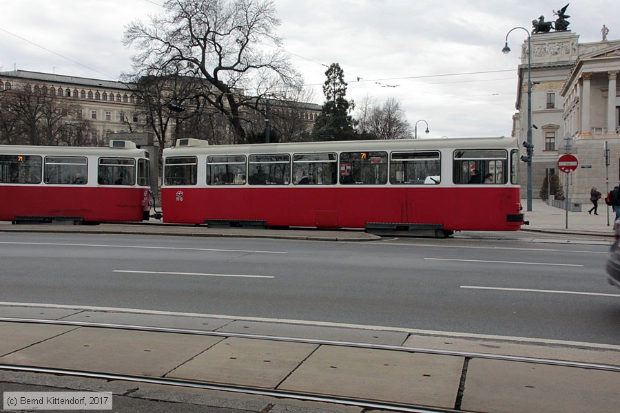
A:
{"type": "Polygon", "coordinates": [[[125,30],[125,45],[138,50],[132,77],[174,67],[178,76],[200,79],[196,98],[226,117],[237,142],[245,142],[260,99],[300,88],[300,75],[279,48],[272,0],[167,0],[164,8],[165,15],[125,30]]]}

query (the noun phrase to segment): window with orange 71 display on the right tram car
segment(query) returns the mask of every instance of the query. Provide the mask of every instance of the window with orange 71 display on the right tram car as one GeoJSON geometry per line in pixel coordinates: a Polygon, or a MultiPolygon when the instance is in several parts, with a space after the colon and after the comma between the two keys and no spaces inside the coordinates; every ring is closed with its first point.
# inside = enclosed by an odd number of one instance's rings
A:
{"type": "Polygon", "coordinates": [[[340,183],[382,185],[387,183],[387,152],[340,153],[340,183]]]}

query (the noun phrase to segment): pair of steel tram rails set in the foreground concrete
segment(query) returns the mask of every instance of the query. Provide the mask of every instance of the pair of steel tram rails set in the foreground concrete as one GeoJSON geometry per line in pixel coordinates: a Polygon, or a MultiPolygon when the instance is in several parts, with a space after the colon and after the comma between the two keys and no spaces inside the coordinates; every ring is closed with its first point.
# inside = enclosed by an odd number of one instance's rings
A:
{"type": "MultiPolygon", "coordinates": [[[[462,357],[463,370],[456,394],[456,401],[453,409],[446,408],[446,405],[442,407],[433,407],[426,404],[413,404],[411,401],[403,403],[402,401],[385,401],[380,399],[378,401],[372,399],[364,399],[360,396],[351,396],[350,394],[326,394],[309,392],[307,390],[298,390],[296,388],[282,389],[276,385],[273,388],[260,388],[253,385],[239,385],[239,384],[227,384],[216,381],[209,381],[208,379],[196,380],[193,378],[176,378],[165,377],[158,375],[136,375],[134,372],[125,372],[125,374],[118,374],[117,372],[106,372],[101,369],[81,370],[81,366],[72,366],[74,368],[63,368],[62,366],[45,366],[45,364],[39,363],[0,363],[0,370],[12,371],[12,372],[32,372],[32,373],[44,373],[55,374],[67,377],[81,377],[90,379],[104,379],[107,381],[126,381],[133,383],[148,383],[152,385],[168,385],[173,387],[194,388],[198,390],[214,390],[221,392],[231,392],[236,394],[248,394],[252,396],[269,396],[276,399],[293,399],[298,401],[309,401],[318,403],[331,403],[335,405],[354,406],[360,407],[365,410],[385,410],[393,412],[417,412],[417,413],[437,413],[437,412],[468,412],[470,410],[462,409],[462,398],[464,390],[466,388],[467,370],[468,365],[475,359],[490,359],[495,361],[513,361],[518,363],[531,363],[535,365],[548,365],[557,366],[563,368],[577,368],[584,370],[599,370],[601,372],[615,372],[620,373],[620,365],[603,364],[603,363],[584,363],[580,361],[566,361],[558,359],[543,359],[537,357],[522,357],[522,356],[510,356],[504,354],[488,354],[483,352],[466,352],[456,350],[437,350],[433,348],[417,348],[407,346],[395,346],[387,344],[376,343],[362,343],[355,341],[335,341],[324,339],[307,339],[300,337],[282,337],[276,335],[260,335],[243,332],[225,332],[225,331],[209,331],[209,330],[196,330],[189,328],[170,328],[170,327],[156,327],[156,326],[142,326],[137,324],[114,324],[114,323],[101,323],[90,321],[69,321],[62,319],[37,319],[37,318],[25,318],[25,317],[0,317],[2,323],[16,323],[16,324],[39,324],[47,326],[67,326],[75,328],[104,328],[114,330],[131,330],[139,332],[156,332],[167,333],[177,335],[196,335],[205,337],[221,337],[222,339],[235,338],[235,339],[256,339],[265,341],[282,341],[287,343],[305,343],[313,344],[316,346],[338,346],[344,348],[358,348],[367,350],[388,350],[391,352],[409,352],[409,353],[422,353],[432,354],[436,356],[452,356],[462,357]],[[75,368],[79,367],[79,368],[75,368]]],[[[74,331],[74,330],[72,330],[74,331]]],[[[608,374],[608,373],[605,373],[608,374]]],[[[389,399],[388,399],[389,400],[389,399]]]]}

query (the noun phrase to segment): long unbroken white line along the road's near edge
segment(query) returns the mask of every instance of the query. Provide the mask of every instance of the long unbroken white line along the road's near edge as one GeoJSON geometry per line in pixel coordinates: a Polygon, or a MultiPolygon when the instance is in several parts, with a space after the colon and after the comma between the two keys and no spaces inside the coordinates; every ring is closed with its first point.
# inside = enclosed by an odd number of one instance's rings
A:
{"type": "MultiPolygon", "coordinates": [[[[421,330],[417,328],[371,326],[371,325],[366,325],[366,324],[337,323],[337,322],[332,322],[332,321],[276,319],[276,318],[267,318],[267,317],[245,317],[245,316],[238,316],[238,315],[217,315],[217,314],[201,314],[201,313],[181,313],[177,311],[143,310],[143,309],[138,309],[138,308],[79,306],[79,305],[72,305],[72,304],[20,303],[20,302],[7,302],[7,301],[0,301],[0,306],[64,308],[64,309],[70,309],[70,310],[106,311],[106,312],[112,312],[112,313],[116,312],[116,313],[132,313],[132,314],[147,314],[147,315],[176,315],[176,316],[182,316],[182,317],[203,317],[203,318],[214,318],[214,319],[225,319],[225,320],[271,322],[271,323],[278,323],[278,324],[298,324],[301,326],[356,328],[359,330],[405,332],[405,333],[409,333],[412,335],[459,337],[462,339],[485,339],[485,340],[502,340],[502,341],[508,340],[508,341],[516,341],[519,343],[541,343],[541,344],[554,344],[554,345],[559,345],[559,346],[581,346],[581,347],[599,348],[603,350],[614,350],[614,351],[620,350],[620,346],[615,345],[615,344],[590,343],[588,341],[566,341],[566,340],[556,340],[556,339],[538,339],[535,337],[486,335],[486,334],[477,334],[474,332],[470,333],[470,332],[453,332],[453,331],[440,331],[440,330],[421,330]]],[[[0,308],[0,311],[1,311],[1,308],[0,308]]]]}

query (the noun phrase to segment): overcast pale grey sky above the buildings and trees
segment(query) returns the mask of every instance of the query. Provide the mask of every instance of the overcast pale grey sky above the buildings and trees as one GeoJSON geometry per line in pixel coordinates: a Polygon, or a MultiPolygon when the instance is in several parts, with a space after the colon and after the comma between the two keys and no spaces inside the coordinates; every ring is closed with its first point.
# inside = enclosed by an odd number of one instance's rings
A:
{"type": "MultiPolygon", "coordinates": [[[[0,70],[118,79],[131,70],[127,23],[163,12],[163,0],[0,0],[0,70]]],[[[275,0],[284,48],[324,100],[324,72],[344,70],[347,97],[400,100],[418,136],[510,136],[524,30],[506,33],[567,1],[275,0]],[[490,73],[492,72],[492,73],[490,73]],[[358,81],[360,78],[360,81],[358,81]]],[[[620,39],[617,0],[572,1],[569,29],[580,43],[620,39]]]]}

